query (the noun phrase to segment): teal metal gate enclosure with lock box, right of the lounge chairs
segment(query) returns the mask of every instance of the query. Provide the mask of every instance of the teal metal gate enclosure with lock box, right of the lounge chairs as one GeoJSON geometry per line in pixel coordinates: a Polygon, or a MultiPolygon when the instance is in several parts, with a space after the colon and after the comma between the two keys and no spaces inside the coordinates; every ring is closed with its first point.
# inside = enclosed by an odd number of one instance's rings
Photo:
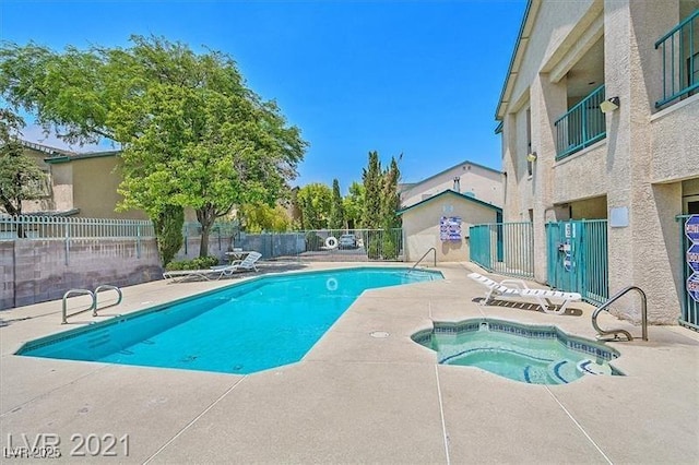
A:
{"type": "Polygon", "coordinates": [[[602,305],[609,298],[607,220],[546,224],[548,285],[602,305]]]}

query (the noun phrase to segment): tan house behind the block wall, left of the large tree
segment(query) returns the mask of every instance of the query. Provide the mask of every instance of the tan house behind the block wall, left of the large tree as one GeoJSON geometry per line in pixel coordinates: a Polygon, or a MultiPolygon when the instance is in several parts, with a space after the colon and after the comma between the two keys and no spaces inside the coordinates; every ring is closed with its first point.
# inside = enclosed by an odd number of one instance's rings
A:
{"type": "Polygon", "coordinates": [[[22,213],[85,218],[146,219],[141,211],[115,211],[121,195],[119,151],[73,153],[23,142],[25,154],[44,171],[43,195],[24,201],[22,213]]]}

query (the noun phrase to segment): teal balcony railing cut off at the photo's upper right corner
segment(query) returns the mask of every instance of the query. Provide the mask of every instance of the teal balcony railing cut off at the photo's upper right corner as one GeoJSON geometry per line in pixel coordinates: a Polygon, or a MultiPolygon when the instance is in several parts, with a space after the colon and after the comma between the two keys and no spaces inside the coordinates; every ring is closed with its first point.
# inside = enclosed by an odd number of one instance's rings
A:
{"type": "Polygon", "coordinates": [[[655,108],[699,90],[699,10],[655,43],[663,53],[663,97],[655,108]]]}

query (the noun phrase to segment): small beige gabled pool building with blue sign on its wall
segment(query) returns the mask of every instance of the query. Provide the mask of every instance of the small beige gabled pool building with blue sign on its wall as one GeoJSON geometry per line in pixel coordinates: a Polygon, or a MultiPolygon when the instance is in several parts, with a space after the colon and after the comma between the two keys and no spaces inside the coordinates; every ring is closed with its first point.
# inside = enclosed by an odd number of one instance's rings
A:
{"type": "MultiPolygon", "coordinates": [[[[470,259],[469,227],[502,220],[502,210],[471,195],[443,190],[398,212],[403,219],[405,261],[419,260],[430,248],[438,262],[470,259]]],[[[427,263],[433,260],[428,254],[427,263]]]]}

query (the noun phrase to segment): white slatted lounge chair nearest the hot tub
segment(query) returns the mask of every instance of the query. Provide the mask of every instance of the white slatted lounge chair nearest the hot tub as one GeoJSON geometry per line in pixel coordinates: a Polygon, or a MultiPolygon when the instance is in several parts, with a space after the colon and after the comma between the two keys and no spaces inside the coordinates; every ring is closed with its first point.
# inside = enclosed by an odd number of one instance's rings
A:
{"type": "Polygon", "coordinates": [[[495,297],[529,297],[535,299],[545,313],[562,314],[566,312],[568,303],[582,300],[582,296],[578,293],[532,289],[522,279],[502,279],[498,283],[478,273],[471,273],[469,277],[488,288],[483,305],[490,303],[495,297]],[[562,300],[562,303],[556,306],[550,299],[562,300]]]}

